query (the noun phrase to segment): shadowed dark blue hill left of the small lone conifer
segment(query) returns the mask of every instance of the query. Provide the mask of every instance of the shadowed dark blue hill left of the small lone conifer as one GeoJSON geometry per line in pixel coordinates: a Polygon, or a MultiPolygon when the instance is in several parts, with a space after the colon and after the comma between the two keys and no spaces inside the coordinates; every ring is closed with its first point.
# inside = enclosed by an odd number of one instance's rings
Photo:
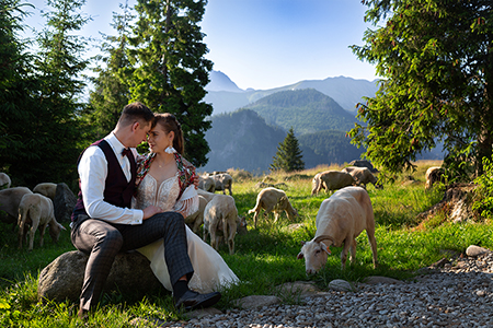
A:
{"type": "Polygon", "coordinates": [[[253,173],[267,171],[277,145],[286,138],[280,128],[268,126],[253,110],[239,109],[211,117],[206,132],[210,152],[207,165],[198,171],[242,168],[253,173]]]}

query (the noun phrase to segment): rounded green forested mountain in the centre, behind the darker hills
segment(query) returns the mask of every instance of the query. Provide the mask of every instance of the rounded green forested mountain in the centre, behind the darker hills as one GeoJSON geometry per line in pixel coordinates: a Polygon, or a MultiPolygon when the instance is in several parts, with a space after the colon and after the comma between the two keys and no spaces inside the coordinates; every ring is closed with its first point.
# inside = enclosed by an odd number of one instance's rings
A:
{"type": "Polygon", "coordinates": [[[271,126],[286,131],[293,127],[298,136],[321,130],[348,131],[357,121],[333,98],[314,89],[280,91],[243,108],[255,110],[271,126]]]}

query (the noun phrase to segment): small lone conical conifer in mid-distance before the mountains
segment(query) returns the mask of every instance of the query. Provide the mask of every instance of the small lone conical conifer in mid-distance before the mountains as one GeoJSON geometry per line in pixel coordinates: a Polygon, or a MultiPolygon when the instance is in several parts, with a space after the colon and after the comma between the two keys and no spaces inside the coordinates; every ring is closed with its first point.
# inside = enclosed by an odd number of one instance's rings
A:
{"type": "Polygon", "coordinates": [[[289,129],[283,142],[277,147],[277,153],[273,157],[274,162],[271,164],[272,171],[300,171],[305,168],[303,155],[299,149],[298,139],[295,137],[293,127],[289,129]]]}

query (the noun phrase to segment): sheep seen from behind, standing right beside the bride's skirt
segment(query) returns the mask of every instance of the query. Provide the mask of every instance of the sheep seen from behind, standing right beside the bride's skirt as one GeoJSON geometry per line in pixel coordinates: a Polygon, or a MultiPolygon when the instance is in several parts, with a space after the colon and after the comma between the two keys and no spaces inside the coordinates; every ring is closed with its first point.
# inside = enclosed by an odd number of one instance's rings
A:
{"type": "Polygon", "coordinates": [[[229,254],[234,254],[234,235],[237,234],[238,210],[234,199],[229,195],[217,195],[204,210],[204,242],[210,235],[210,246],[219,250],[220,231],[228,241],[229,254]]]}

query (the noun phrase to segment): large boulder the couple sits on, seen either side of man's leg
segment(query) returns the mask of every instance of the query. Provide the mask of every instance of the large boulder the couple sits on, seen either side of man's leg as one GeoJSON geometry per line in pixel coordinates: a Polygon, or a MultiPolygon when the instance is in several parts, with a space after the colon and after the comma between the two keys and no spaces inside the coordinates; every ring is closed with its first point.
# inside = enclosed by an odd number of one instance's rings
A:
{"type": "MultiPolygon", "coordinates": [[[[80,296],[89,256],[79,250],[57,257],[39,273],[38,300],[77,302],[80,296]]],[[[118,254],[106,280],[104,292],[118,291],[141,298],[164,288],[149,267],[149,260],[138,251],[118,254]]]]}

